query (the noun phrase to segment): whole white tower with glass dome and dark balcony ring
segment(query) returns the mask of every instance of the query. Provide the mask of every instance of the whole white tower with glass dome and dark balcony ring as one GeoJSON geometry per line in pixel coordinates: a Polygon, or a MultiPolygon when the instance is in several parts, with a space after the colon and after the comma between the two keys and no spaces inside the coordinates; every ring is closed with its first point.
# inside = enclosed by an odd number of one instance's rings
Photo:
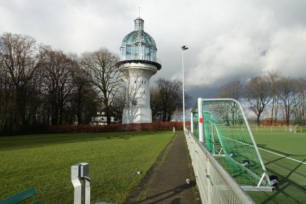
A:
{"type": "Polygon", "coordinates": [[[122,40],[121,60],[116,64],[126,83],[122,123],[152,122],[149,81],[162,68],[154,39],[143,31],[143,19],[134,22],[134,31],[122,40]]]}

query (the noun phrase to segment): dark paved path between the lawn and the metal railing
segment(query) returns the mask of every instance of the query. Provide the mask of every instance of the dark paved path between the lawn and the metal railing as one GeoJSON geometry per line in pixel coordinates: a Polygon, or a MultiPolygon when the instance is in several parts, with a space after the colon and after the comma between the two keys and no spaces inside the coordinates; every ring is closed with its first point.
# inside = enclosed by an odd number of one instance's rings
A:
{"type": "Polygon", "coordinates": [[[199,198],[185,136],[176,133],[126,203],[198,204],[199,198]]]}

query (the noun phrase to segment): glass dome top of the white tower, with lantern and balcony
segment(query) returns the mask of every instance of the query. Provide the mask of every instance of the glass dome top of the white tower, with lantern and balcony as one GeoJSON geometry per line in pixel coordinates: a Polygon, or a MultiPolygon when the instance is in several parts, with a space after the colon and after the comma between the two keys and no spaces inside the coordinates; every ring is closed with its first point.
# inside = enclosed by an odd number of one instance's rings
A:
{"type": "Polygon", "coordinates": [[[121,60],[118,66],[128,62],[144,62],[154,64],[158,70],[161,69],[161,61],[156,58],[157,47],[154,39],[143,31],[144,20],[140,17],[134,20],[135,30],[127,34],[120,47],[121,60]]]}

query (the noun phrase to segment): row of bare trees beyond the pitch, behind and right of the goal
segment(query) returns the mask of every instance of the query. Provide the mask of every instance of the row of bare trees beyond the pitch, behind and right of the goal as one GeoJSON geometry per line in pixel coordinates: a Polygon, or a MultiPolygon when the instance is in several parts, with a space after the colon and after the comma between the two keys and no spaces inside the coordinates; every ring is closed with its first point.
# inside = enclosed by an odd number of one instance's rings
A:
{"type": "Polygon", "coordinates": [[[285,77],[277,70],[267,71],[253,77],[245,85],[230,82],[219,90],[218,97],[234,98],[257,116],[267,114],[276,123],[285,120],[286,125],[293,123],[305,126],[306,80],[285,77]]]}

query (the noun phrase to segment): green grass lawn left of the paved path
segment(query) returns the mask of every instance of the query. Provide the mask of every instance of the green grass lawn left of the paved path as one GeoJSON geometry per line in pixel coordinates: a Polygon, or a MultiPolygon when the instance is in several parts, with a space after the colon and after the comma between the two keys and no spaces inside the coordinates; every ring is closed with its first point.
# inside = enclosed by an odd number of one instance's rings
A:
{"type": "Polygon", "coordinates": [[[171,131],[0,137],[0,200],[34,187],[41,203],[72,203],[71,165],[90,164],[91,201],[124,203],[171,131]],[[136,174],[142,171],[142,174],[136,174]]]}

